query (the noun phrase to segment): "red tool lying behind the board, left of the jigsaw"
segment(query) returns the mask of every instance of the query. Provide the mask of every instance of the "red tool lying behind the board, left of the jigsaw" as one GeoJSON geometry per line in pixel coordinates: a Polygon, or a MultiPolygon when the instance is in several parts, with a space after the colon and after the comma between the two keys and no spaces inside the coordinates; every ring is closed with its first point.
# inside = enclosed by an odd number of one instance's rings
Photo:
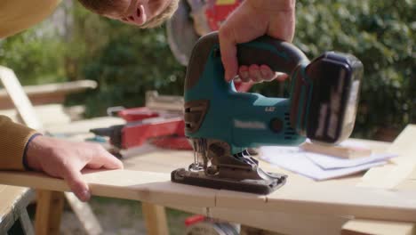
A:
{"type": "MultiPolygon", "coordinates": [[[[247,92],[252,85],[252,83],[236,82],[236,90],[247,92]]],[[[178,97],[173,96],[156,95],[148,98],[151,100],[149,103],[155,106],[169,102],[172,98],[178,100],[178,97]]],[[[180,106],[182,107],[182,105],[180,106]]],[[[117,155],[119,150],[139,147],[147,141],[164,149],[193,150],[185,137],[185,123],[180,112],[156,111],[148,107],[140,107],[117,110],[116,114],[123,118],[127,124],[96,128],[90,131],[93,134],[108,136],[110,143],[115,147],[114,153],[117,155]]]]}

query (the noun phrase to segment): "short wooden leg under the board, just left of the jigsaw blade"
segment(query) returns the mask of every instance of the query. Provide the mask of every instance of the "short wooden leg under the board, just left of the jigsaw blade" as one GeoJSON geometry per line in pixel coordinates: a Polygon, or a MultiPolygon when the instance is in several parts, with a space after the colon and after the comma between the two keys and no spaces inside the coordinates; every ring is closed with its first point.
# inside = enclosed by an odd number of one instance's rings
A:
{"type": "Polygon", "coordinates": [[[152,203],[141,203],[146,231],[148,235],[168,235],[166,213],[164,207],[152,203]]]}

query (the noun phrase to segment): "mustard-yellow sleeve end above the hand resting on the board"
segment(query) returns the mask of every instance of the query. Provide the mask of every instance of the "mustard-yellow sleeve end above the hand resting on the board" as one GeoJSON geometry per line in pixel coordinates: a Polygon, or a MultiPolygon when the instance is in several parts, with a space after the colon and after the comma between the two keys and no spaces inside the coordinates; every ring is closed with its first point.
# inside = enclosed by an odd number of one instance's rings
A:
{"type": "Polygon", "coordinates": [[[0,131],[0,169],[24,170],[25,147],[36,131],[4,116],[0,116],[0,131]]]}

